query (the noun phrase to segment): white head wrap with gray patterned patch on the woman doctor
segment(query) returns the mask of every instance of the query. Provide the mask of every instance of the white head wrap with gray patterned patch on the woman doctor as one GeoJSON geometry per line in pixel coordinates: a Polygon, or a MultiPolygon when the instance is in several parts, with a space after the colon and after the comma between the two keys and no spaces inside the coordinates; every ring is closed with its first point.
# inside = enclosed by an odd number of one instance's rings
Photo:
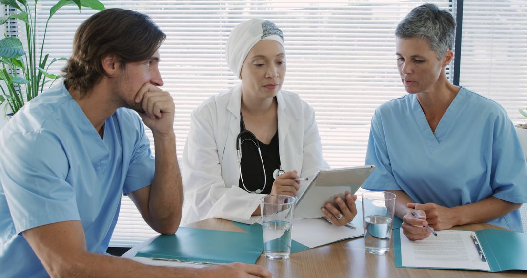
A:
{"type": "Polygon", "coordinates": [[[227,64],[237,77],[240,77],[247,54],[262,39],[272,39],[284,46],[282,31],[274,23],[262,18],[249,19],[232,29],[227,41],[227,64]]]}

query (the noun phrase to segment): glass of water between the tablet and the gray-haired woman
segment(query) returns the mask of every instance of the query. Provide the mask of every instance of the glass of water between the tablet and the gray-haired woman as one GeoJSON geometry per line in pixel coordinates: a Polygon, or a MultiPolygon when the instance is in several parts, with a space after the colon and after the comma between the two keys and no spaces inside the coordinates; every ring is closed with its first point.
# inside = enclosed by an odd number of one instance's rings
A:
{"type": "Polygon", "coordinates": [[[368,191],[362,194],[364,249],[382,255],[390,251],[395,212],[395,194],[368,191]]]}

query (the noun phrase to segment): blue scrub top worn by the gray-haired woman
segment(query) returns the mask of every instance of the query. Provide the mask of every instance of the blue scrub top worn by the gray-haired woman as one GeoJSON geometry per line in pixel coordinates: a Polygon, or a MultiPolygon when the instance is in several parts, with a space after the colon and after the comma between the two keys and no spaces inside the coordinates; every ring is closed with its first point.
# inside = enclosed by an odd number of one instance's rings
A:
{"type": "MultiPolygon", "coordinates": [[[[402,190],[416,203],[454,207],[490,196],[527,202],[527,165],[503,107],[461,88],[437,125],[426,121],[415,94],[375,111],[363,188],[402,190]]],[[[522,232],[518,210],[489,224],[522,232]]]]}

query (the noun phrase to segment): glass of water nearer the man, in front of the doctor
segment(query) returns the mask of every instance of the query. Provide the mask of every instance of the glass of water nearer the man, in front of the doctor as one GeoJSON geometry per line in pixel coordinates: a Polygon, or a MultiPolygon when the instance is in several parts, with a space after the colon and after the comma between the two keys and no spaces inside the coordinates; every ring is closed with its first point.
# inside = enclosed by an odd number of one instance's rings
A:
{"type": "Polygon", "coordinates": [[[270,260],[286,260],[291,254],[295,202],[295,197],[287,195],[260,198],[265,256],[270,260]]]}

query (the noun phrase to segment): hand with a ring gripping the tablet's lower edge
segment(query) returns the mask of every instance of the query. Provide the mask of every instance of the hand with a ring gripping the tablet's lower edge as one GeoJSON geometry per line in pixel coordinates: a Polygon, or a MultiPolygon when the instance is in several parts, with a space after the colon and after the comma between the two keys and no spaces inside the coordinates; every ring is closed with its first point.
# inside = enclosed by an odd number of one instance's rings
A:
{"type": "Polygon", "coordinates": [[[357,215],[357,206],[355,206],[357,195],[346,192],[345,197],[346,201],[342,200],[341,197],[335,198],[337,207],[328,202],[326,203],[325,207],[320,208],[320,210],[326,215],[329,222],[335,226],[344,226],[351,222],[355,215],[357,215]]]}

